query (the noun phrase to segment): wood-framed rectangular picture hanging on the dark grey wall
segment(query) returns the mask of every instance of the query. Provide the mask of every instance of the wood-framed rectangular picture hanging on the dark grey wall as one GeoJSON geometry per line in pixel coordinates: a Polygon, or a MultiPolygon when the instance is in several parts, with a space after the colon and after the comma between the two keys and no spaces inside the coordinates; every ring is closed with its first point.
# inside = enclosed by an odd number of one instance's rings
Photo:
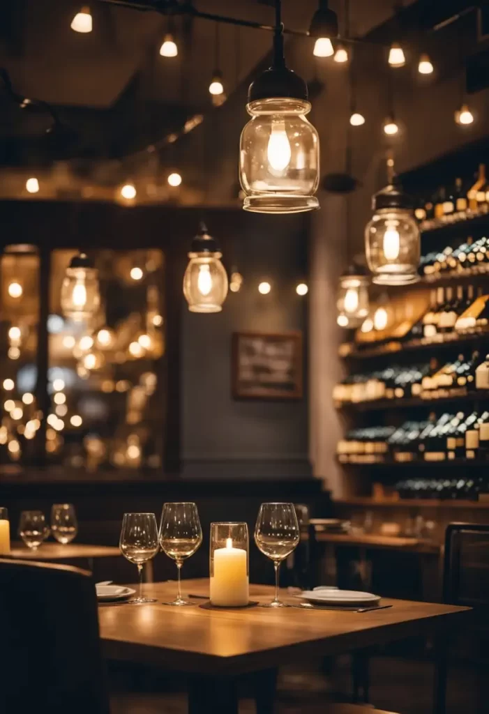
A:
{"type": "Polygon", "coordinates": [[[302,333],[233,333],[231,379],[235,399],[300,399],[302,333]]]}

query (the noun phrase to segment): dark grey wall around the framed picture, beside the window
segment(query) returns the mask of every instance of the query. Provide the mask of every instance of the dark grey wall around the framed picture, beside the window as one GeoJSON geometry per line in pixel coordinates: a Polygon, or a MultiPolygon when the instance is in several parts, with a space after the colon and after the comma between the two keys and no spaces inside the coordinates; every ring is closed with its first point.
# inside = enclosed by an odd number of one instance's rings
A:
{"type": "Polygon", "coordinates": [[[206,211],[206,221],[221,242],[227,267],[236,261],[244,283],[239,293],[228,293],[221,313],[183,311],[183,473],[306,476],[311,473],[307,380],[299,401],[234,400],[231,336],[244,330],[305,331],[308,298],[295,288],[307,273],[308,216],[224,213],[223,219],[219,211],[206,211]],[[265,278],[272,291],[263,296],[258,283],[265,278]]]}

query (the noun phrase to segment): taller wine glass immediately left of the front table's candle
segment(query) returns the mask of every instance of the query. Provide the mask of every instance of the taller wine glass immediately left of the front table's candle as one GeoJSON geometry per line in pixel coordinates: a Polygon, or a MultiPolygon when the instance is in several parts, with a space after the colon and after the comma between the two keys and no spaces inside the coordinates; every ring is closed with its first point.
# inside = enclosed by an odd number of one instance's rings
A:
{"type": "Polygon", "coordinates": [[[195,503],[165,503],[161,513],[160,545],[163,553],[176,562],[178,594],[164,605],[193,605],[181,596],[180,571],[183,560],[190,558],[202,543],[201,521],[195,503]]]}

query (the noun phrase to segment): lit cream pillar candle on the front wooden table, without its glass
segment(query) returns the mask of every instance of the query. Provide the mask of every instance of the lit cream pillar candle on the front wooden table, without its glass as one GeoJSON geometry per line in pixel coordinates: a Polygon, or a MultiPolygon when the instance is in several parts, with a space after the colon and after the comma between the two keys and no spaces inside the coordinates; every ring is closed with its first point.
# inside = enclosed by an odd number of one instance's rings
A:
{"type": "Polygon", "coordinates": [[[233,548],[233,539],[227,538],[226,548],[214,550],[211,604],[221,608],[238,608],[248,605],[248,599],[246,550],[233,548]]]}

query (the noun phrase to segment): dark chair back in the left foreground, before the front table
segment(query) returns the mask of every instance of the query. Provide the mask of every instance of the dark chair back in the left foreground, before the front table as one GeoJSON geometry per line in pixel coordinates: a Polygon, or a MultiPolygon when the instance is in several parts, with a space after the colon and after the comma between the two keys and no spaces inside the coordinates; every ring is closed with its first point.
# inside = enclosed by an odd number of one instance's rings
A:
{"type": "Polygon", "coordinates": [[[0,559],[0,711],[109,714],[91,573],[0,559]]]}

